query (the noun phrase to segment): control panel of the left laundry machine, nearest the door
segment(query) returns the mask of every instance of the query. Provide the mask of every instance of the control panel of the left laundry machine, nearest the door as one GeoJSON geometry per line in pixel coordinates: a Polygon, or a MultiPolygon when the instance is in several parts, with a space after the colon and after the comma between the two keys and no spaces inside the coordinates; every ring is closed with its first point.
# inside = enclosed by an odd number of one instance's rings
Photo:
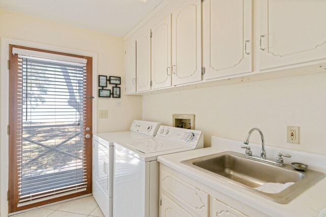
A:
{"type": "Polygon", "coordinates": [[[161,123],[159,122],[134,120],[131,123],[130,131],[147,136],[155,136],[160,125],[161,123]]]}

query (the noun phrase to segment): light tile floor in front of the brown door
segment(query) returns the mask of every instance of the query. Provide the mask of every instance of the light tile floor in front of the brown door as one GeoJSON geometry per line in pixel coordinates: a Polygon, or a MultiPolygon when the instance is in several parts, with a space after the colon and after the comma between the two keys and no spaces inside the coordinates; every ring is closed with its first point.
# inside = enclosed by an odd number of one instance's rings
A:
{"type": "Polygon", "coordinates": [[[104,217],[93,196],[79,198],[29,212],[12,215],[12,217],[104,217]]]}

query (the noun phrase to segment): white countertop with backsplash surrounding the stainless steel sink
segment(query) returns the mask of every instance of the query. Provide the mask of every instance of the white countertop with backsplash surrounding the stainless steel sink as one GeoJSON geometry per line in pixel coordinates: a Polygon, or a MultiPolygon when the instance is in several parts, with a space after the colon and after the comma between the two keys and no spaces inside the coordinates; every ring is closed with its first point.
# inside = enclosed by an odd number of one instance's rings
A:
{"type": "MultiPolygon", "coordinates": [[[[238,148],[237,146],[241,146],[241,141],[236,140],[230,140],[231,143],[235,144],[227,144],[229,139],[225,138],[219,138],[215,137],[212,138],[212,146],[214,147],[208,147],[203,149],[196,149],[186,152],[179,152],[179,153],[173,153],[168,154],[165,156],[159,156],[158,161],[164,165],[167,165],[171,167],[172,169],[175,169],[179,171],[180,173],[183,173],[199,182],[202,182],[205,185],[208,185],[209,187],[220,191],[232,198],[235,198],[241,203],[247,204],[263,213],[266,213],[270,216],[318,216],[319,212],[326,208],[326,178],[323,178],[319,182],[317,182],[313,187],[306,190],[301,195],[294,198],[292,201],[290,201],[288,204],[279,204],[273,201],[270,201],[268,199],[265,199],[259,195],[256,195],[244,188],[238,187],[237,185],[234,185],[232,183],[229,183],[228,181],[212,176],[208,173],[202,172],[200,170],[197,170],[195,168],[186,166],[181,161],[193,159],[197,157],[206,156],[208,154],[213,153],[219,153],[226,150],[236,151],[244,153],[244,149],[238,148]],[[213,140],[219,140],[218,143],[223,143],[223,145],[213,145],[213,140]],[[239,151],[240,150],[240,151],[239,151]]],[[[259,146],[259,144],[252,144],[250,143],[250,146],[259,146]]],[[[272,147],[273,148],[273,147],[272,147]]],[[[253,154],[256,155],[258,152],[255,152],[256,148],[252,148],[253,154]]],[[[279,149],[281,151],[284,151],[282,148],[276,147],[275,149],[279,149]]],[[[273,152],[272,150],[269,150],[270,152],[273,152]]],[[[268,157],[268,150],[267,152],[267,158],[268,157]]],[[[300,151],[295,150],[286,150],[284,153],[289,153],[294,156],[296,154],[297,156],[304,155],[303,153],[300,153],[300,151]]],[[[312,168],[314,170],[317,170],[318,168],[315,164],[319,163],[322,164],[322,166],[325,165],[326,156],[323,156],[321,154],[314,154],[314,153],[308,153],[307,159],[315,158],[316,162],[309,161],[297,161],[302,163],[307,163],[309,166],[312,165],[312,168]],[[310,156],[310,157],[309,157],[310,156]],[[321,159],[321,161],[320,161],[321,159]]],[[[284,159],[285,160],[285,159],[284,159]]],[[[303,160],[303,159],[295,159],[295,160],[303,160]]],[[[294,161],[285,161],[285,163],[294,162],[294,161]]],[[[311,168],[310,168],[311,169],[311,168]]],[[[320,170],[317,170],[320,171],[320,170]]],[[[324,171],[320,171],[324,172],[324,171]]]]}

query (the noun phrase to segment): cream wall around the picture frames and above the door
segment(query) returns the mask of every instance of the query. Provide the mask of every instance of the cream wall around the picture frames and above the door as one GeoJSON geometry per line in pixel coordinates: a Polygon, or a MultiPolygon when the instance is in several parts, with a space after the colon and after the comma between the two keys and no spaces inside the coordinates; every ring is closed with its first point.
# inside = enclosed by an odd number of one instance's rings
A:
{"type": "Polygon", "coordinates": [[[108,109],[108,118],[98,119],[98,133],[129,130],[133,119],[142,118],[141,97],[124,96],[122,38],[3,9],[0,9],[0,37],[94,52],[98,57],[98,74],[121,76],[122,98],[97,101],[97,110],[108,109]]]}

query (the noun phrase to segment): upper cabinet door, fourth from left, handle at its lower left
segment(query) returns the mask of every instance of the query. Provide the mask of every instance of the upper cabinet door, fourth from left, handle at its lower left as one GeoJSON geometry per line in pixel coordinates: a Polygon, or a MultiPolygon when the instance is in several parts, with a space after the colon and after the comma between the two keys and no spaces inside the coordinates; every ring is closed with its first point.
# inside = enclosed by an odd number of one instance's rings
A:
{"type": "Polygon", "coordinates": [[[188,0],[172,13],[172,85],[200,81],[201,0],[188,0]]]}

